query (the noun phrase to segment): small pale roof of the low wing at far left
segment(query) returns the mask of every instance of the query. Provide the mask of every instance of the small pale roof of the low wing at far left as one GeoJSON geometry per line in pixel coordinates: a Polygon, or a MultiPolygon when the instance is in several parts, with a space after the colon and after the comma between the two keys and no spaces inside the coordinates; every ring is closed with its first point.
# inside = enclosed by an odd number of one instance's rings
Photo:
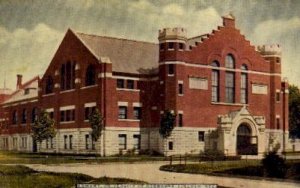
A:
{"type": "Polygon", "coordinates": [[[11,97],[8,100],[6,100],[2,104],[14,103],[38,97],[38,81],[39,77],[36,76],[28,82],[25,82],[18,90],[14,91],[11,94],[11,97]],[[25,94],[26,89],[29,89],[29,92],[27,94],[25,94]]]}

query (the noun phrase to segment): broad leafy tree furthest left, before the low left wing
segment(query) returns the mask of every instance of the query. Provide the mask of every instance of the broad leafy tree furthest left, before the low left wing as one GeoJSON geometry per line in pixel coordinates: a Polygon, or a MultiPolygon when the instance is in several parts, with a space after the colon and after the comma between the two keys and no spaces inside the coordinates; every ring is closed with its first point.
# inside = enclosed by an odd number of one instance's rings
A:
{"type": "Polygon", "coordinates": [[[42,142],[56,135],[54,120],[50,118],[48,112],[42,110],[32,125],[32,138],[36,142],[42,142]]]}

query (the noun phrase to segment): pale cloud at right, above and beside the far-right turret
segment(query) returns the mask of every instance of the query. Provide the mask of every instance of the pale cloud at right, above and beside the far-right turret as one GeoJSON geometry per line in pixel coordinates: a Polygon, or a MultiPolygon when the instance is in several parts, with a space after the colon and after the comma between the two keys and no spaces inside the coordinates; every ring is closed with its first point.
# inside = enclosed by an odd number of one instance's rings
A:
{"type": "Polygon", "coordinates": [[[251,35],[257,44],[280,44],[282,48],[283,76],[288,77],[292,84],[299,84],[300,75],[300,18],[270,19],[263,21],[254,28],[251,35]]]}

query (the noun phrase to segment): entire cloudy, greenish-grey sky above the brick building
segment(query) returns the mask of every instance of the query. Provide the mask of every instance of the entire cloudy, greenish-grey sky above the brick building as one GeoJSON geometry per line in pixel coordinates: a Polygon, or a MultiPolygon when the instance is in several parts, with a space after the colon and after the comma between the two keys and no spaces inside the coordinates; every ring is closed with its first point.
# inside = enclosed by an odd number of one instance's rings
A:
{"type": "Polygon", "coordinates": [[[0,0],[0,88],[42,75],[68,28],[157,42],[158,30],[210,33],[233,13],[252,45],[280,44],[283,77],[300,86],[298,0],[0,0]]]}

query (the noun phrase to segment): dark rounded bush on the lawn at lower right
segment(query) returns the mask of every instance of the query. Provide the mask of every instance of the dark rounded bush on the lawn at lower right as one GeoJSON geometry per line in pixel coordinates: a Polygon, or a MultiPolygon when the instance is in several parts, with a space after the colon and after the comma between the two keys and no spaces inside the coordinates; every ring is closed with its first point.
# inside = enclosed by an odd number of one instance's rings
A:
{"type": "Polygon", "coordinates": [[[285,160],[276,151],[265,155],[262,160],[264,171],[268,177],[284,178],[287,172],[285,160]]]}

